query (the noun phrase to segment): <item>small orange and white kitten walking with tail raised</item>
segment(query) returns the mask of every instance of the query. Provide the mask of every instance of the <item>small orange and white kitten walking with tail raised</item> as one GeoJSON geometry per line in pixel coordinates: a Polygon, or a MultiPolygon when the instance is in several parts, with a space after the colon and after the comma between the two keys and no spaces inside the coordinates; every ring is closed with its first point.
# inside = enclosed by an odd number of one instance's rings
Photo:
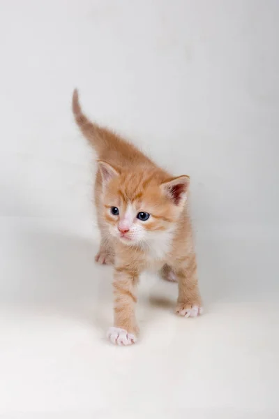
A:
{"type": "Polygon", "coordinates": [[[178,281],[177,314],[202,314],[186,207],[189,177],[169,175],[134,145],[90,122],[82,113],[77,90],[73,113],[98,155],[95,202],[101,242],[96,261],[114,265],[114,325],[107,337],[119,345],[136,341],[137,283],[149,268],[178,281]]]}

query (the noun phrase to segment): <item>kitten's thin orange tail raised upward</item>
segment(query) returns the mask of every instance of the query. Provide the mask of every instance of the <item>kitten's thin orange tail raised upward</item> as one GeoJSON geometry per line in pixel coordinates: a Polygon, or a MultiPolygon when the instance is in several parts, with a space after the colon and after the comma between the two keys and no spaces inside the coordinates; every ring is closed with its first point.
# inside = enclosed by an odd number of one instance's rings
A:
{"type": "Polygon", "coordinates": [[[107,135],[105,135],[107,130],[105,128],[100,128],[97,124],[93,124],[93,122],[89,121],[86,115],[84,115],[80,106],[77,89],[73,91],[72,109],[75,116],[75,122],[80,127],[80,131],[82,131],[82,134],[89,141],[89,144],[92,145],[100,155],[103,149],[108,146],[107,135]]]}

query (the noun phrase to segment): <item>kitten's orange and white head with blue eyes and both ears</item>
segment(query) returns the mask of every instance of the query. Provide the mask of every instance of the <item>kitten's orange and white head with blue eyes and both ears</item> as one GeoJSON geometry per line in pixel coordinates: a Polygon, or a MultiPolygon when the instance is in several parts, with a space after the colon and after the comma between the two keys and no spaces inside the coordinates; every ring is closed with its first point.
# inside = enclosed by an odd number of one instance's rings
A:
{"type": "Polygon", "coordinates": [[[188,176],[166,178],[156,168],[127,172],[98,162],[102,175],[103,219],[110,234],[126,245],[148,246],[172,231],[186,203],[188,176]]]}

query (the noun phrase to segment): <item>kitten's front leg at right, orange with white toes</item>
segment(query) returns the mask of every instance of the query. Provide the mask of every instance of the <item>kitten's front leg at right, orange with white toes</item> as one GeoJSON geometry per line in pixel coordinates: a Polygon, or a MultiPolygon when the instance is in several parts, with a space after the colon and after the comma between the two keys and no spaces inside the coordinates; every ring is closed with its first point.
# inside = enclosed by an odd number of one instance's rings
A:
{"type": "Polygon", "coordinates": [[[176,314],[185,317],[196,317],[202,314],[195,253],[191,252],[186,258],[179,261],[179,265],[176,267],[176,276],[179,281],[176,314]]]}

